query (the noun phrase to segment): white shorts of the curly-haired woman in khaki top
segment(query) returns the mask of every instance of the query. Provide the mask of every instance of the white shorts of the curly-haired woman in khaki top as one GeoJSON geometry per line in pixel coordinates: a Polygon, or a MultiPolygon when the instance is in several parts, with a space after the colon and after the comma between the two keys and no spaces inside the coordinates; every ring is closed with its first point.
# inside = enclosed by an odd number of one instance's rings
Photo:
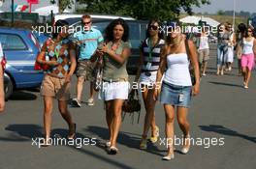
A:
{"type": "Polygon", "coordinates": [[[128,99],[129,82],[103,82],[101,91],[99,92],[99,99],[112,100],[112,99],[128,99]]]}

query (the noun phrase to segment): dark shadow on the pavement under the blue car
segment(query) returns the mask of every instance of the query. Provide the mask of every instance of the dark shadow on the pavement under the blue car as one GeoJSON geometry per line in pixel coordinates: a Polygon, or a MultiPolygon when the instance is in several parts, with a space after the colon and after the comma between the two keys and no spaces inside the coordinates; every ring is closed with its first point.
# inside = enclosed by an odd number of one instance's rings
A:
{"type": "Polygon", "coordinates": [[[26,91],[15,91],[10,100],[35,100],[37,96],[26,91]]]}

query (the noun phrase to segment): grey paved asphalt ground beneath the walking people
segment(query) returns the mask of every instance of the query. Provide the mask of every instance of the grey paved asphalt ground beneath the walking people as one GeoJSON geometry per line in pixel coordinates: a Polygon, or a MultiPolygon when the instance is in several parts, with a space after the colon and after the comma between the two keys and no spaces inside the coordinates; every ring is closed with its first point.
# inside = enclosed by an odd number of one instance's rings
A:
{"type": "MultiPolygon", "coordinates": [[[[214,58],[211,58],[208,75],[202,79],[201,94],[193,99],[190,109],[191,135],[197,145],[192,146],[188,155],[176,152],[174,160],[162,161],[166,149],[161,142],[150,145],[147,151],[139,150],[143,118],[140,124],[132,125],[129,117],[122,124],[118,137],[120,154],[107,155],[102,143],[108,138],[108,131],[100,100],[93,107],[83,104],[82,108],[70,109],[78,124],[78,137],[87,138],[85,142],[92,144],[97,138],[96,145],[39,149],[32,146],[32,138],[42,136],[42,99],[37,91],[19,91],[7,102],[6,112],[0,115],[0,168],[255,168],[256,77],[253,75],[249,89],[245,90],[241,87],[242,80],[237,75],[237,69],[227,75],[216,76],[214,63],[214,58]]],[[[88,96],[88,85],[85,89],[84,100],[88,96]]],[[[165,119],[160,104],[156,106],[156,121],[164,139],[165,119]]],[[[56,106],[52,132],[55,137],[65,137],[67,133],[66,124],[56,106]]],[[[176,136],[181,136],[177,125],[176,136]]],[[[180,147],[176,146],[176,149],[180,147]]]]}

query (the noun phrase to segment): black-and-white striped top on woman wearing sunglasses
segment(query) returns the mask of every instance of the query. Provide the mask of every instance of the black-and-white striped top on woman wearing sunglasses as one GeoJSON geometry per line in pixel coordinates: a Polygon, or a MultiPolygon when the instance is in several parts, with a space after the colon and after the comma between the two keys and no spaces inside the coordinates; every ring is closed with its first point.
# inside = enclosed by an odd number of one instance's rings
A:
{"type": "Polygon", "coordinates": [[[146,39],[142,44],[142,52],[144,54],[144,65],[142,71],[155,71],[158,70],[160,65],[160,50],[165,44],[165,41],[160,39],[155,46],[149,47],[149,39],[146,39]],[[149,57],[149,48],[151,51],[151,59],[149,57]],[[147,63],[151,63],[150,69],[146,68],[147,63]]]}

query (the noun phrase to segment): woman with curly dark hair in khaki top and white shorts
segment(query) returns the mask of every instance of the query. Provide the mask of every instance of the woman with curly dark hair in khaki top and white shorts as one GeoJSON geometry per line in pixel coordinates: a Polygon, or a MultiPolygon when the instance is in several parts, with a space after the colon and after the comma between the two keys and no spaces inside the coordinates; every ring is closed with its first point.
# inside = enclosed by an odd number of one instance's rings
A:
{"type": "Polygon", "coordinates": [[[131,55],[128,42],[129,27],[121,19],[114,19],[106,28],[105,44],[98,49],[103,55],[103,85],[100,99],[105,101],[106,120],[109,127],[110,139],[106,143],[108,153],[115,155],[116,139],[121,126],[122,104],[128,99],[129,82],[126,64],[131,55]]]}

